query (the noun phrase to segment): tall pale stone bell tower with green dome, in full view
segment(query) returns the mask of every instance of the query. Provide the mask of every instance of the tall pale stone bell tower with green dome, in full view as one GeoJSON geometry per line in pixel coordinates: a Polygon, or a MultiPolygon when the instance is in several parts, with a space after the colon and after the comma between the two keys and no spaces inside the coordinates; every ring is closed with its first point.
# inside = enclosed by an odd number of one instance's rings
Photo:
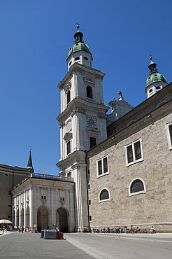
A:
{"type": "Polygon", "coordinates": [[[92,53],[83,41],[83,33],[74,34],[74,44],[67,58],[68,72],[57,85],[61,92],[61,158],[57,163],[61,176],[76,183],[76,230],[89,226],[85,151],[107,138],[106,112],[103,104],[104,73],[92,68],[92,53]]]}

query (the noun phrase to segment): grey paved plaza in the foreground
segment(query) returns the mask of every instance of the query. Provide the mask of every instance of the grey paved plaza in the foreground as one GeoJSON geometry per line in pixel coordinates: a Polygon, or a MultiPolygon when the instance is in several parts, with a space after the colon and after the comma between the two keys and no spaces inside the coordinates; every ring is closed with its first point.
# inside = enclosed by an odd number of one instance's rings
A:
{"type": "MultiPolygon", "coordinates": [[[[0,233],[1,234],[1,233],[0,233]]],[[[172,234],[66,233],[63,240],[39,233],[0,235],[0,258],[171,258],[172,234]]]]}

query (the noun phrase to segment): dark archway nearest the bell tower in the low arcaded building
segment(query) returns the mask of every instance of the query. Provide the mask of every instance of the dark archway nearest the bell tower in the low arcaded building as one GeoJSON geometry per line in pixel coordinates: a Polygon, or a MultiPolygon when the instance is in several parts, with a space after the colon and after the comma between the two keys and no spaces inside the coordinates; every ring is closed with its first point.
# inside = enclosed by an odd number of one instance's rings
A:
{"type": "Polygon", "coordinates": [[[56,211],[56,225],[59,226],[59,231],[68,231],[68,215],[63,208],[59,208],[56,211]]]}

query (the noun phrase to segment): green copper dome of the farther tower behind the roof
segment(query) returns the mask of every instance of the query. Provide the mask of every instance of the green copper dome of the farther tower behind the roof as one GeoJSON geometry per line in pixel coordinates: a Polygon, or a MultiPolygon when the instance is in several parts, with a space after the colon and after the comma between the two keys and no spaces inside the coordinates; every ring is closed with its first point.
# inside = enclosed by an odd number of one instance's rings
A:
{"type": "Polygon", "coordinates": [[[148,76],[146,80],[145,87],[148,87],[148,85],[150,85],[151,83],[160,82],[160,81],[166,83],[166,78],[161,73],[158,73],[156,66],[157,64],[155,64],[151,60],[148,66],[148,68],[150,69],[150,76],[148,76]]]}

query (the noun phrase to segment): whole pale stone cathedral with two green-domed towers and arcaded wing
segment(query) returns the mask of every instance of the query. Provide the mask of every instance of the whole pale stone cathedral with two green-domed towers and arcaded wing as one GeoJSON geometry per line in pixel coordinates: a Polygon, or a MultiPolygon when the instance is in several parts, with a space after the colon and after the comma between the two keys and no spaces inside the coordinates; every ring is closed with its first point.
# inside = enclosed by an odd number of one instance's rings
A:
{"type": "MultiPolygon", "coordinates": [[[[20,181],[8,186],[11,221],[27,230],[154,225],[159,232],[172,232],[172,83],[166,83],[150,57],[147,99],[133,107],[119,91],[119,100],[106,106],[105,74],[92,68],[92,53],[79,29],[68,53],[68,71],[57,85],[59,176],[35,173],[30,153],[20,181]]],[[[7,174],[12,177],[13,170],[7,174]]]]}

